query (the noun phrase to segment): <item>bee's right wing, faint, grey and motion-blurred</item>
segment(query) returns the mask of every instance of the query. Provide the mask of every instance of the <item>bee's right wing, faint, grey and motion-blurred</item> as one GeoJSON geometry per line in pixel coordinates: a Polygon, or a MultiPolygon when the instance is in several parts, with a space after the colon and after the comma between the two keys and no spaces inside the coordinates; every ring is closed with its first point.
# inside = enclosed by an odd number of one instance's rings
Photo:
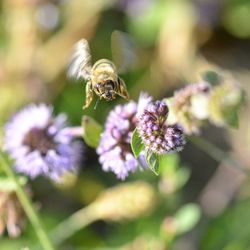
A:
{"type": "Polygon", "coordinates": [[[127,33],[117,30],[112,32],[111,50],[119,73],[124,73],[138,63],[135,42],[127,33]]]}

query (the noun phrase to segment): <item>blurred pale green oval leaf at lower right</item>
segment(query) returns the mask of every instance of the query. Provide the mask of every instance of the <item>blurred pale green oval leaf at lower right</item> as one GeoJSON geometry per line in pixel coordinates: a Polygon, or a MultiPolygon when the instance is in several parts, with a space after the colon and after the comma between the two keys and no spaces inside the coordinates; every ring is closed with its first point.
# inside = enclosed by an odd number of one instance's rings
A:
{"type": "Polygon", "coordinates": [[[201,216],[200,208],[196,204],[183,206],[175,215],[177,222],[177,234],[190,231],[199,221],[201,216]]]}

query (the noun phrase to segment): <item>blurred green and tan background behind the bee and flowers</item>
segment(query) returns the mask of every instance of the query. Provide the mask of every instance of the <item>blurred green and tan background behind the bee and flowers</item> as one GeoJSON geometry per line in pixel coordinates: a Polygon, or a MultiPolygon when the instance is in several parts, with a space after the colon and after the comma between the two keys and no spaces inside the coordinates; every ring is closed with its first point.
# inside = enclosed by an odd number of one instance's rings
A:
{"type": "MultiPolygon", "coordinates": [[[[92,104],[83,111],[85,83],[67,79],[67,64],[73,44],[81,38],[89,41],[93,61],[112,59],[114,30],[129,33],[138,47],[138,65],[122,75],[131,99],[137,100],[142,90],[155,99],[169,97],[184,84],[200,81],[205,70],[231,72],[249,95],[249,0],[2,0],[1,128],[30,102],[52,103],[55,113],[65,112],[72,125],[79,125],[83,114],[103,123],[112,107],[125,101],[101,101],[96,110],[92,104]]],[[[208,126],[202,133],[232,153],[245,172],[250,166],[249,108],[246,98],[238,130],[208,126]]],[[[95,151],[86,147],[78,177],[68,176],[61,185],[43,178],[30,183],[47,228],[120,183],[103,172],[96,159],[95,151]]],[[[59,249],[250,249],[250,182],[245,172],[213,160],[188,142],[180,156],[166,159],[159,176],[141,171],[125,181],[140,179],[152,185],[157,202],[151,212],[130,221],[95,222],[59,249]],[[187,208],[187,203],[197,205],[187,208]],[[196,223],[198,207],[201,217],[196,223]],[[181,209],[185,211],[180,216],[181,209]],[[187,223],[183,231],[176,229],[178,220],[187,223]]],[[[27,223],[19,238],[5,234],[0,249],[33,249],[36,241],[27,223]]]]}

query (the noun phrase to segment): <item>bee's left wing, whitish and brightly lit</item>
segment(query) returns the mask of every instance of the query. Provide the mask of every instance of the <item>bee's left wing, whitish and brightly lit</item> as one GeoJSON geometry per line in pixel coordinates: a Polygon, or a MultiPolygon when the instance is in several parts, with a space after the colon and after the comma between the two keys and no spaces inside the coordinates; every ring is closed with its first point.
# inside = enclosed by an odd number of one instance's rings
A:
{"type": "Polygon", "coordinates": [[[68,68],[68,77],[89,80],[91,68],[89,44],[87,40],[81,39],[74,46],[68,68]]]}

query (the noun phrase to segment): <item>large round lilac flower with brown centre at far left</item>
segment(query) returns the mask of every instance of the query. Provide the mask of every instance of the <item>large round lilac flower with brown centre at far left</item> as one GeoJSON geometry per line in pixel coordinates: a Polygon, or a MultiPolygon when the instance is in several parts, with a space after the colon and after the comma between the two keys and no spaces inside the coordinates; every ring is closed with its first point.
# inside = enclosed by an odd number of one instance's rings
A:
{"type": "Polygon", "coordinates": [[[15,160],[17,172],[59,180],[76,170],[81,149],[67,133],[67,117],[53,117],[52,111],[45,104],[31,104],[6,124],[4,147],[15,160]]]}

